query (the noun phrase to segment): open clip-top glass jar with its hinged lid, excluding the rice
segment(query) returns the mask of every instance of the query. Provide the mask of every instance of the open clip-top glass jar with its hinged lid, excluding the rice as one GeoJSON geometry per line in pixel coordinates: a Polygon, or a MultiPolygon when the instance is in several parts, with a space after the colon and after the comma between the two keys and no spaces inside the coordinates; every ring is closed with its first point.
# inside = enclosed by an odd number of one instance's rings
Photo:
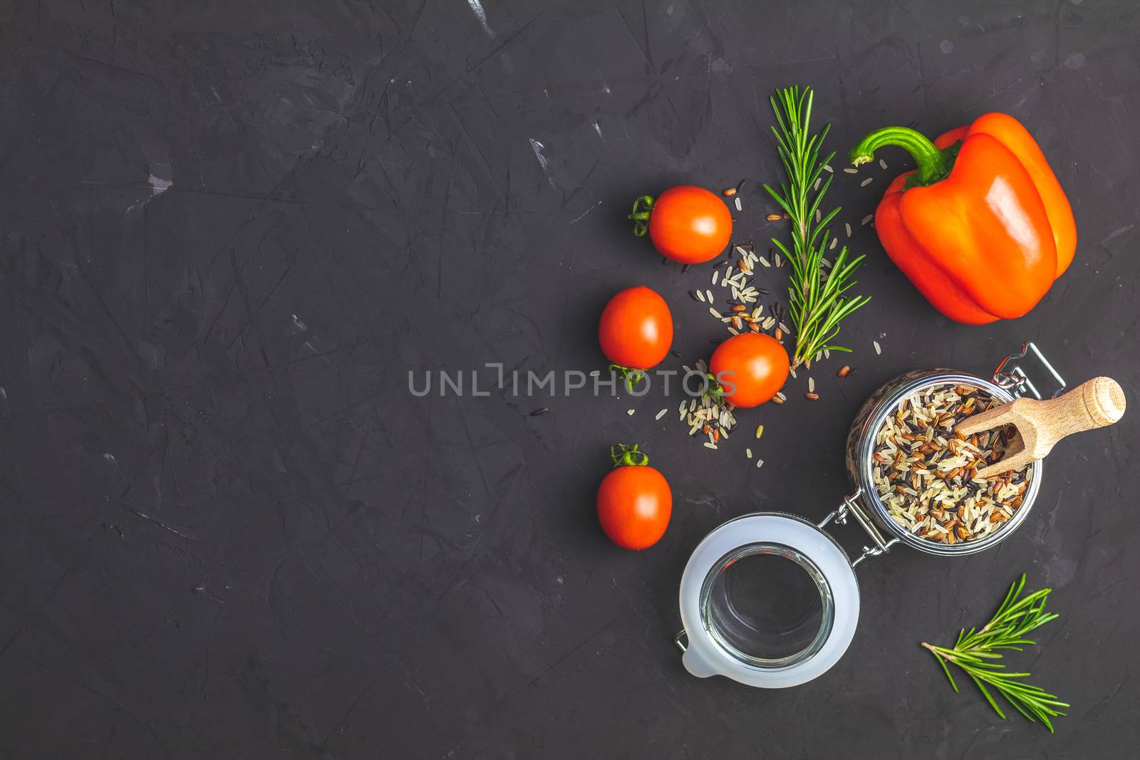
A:
{"type": "Polygon", "coordinates": [[[846,461],[855,492],[837,509],[815,524],[781,513],[743,515],[705,537],[681,579],[684,628],[676,643],[684,653],[685,669],[701,678],[720,675],[764,688],[812,680],[839,661],[855,635],[858,563],[899,542],[934,555],[964,555],[991,548],[1012,534],[1025,522],[1041,489],[1040,460],[1032,465],[1021,505],[1001,529],[977,540],[947,545],[920,538],[890,518],[872,481],[871,457],[887,416],[918,391],[969,385],[1000,403],[1023,394],[1040,399],[1029,376],[1016,363],[1031,352],[1056,381],[1053,395],[1061,393],[1065,381],[1032,343],[1005,357],[991,379],[946,369],[896,377],[868,398],[852,423],[846,461]],[[849,517],[870,538],[854,561],[824,531],[830,523],[845,524],[849,517]],[[790,603],[781,605],[781,597],[790,603]]]}

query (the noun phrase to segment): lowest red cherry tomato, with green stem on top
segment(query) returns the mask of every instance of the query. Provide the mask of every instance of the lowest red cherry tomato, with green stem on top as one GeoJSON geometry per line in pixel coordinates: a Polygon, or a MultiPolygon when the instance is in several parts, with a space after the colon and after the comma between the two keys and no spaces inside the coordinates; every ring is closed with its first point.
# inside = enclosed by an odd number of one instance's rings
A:
{"type": "Polygon", "coordinates": [[[624,549],[645,549],[657,544],[669,526],[673,492],[665,475],[650,467],[637,447],[613,447],[618,467],[597,487],[597,520],[610,540],[624,549]]]}

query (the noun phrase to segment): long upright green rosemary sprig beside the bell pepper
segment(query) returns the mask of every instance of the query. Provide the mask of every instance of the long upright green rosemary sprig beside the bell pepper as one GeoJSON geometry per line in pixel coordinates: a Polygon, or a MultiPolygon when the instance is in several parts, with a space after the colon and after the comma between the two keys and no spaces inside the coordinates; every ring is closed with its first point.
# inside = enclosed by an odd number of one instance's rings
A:
{"type": "Polygon", "coordinates": [[[791,263],[791,280],[788,285],[789,313],[796,329],[796,351],[792,368],[811,366],[821,351],[850,351],[830,341],[839,334],[839,322],[844,317],[864,305],[869,297],[857,295],[842,297],[853,285],[850,280],[863,256],[848,260],[847,246],[836,256],[829,273],[823,267],[823,253],[828,250],[830,230],[828,224],[839,213],[836,207],[822,214],[816,221],[816,212],[823,195],[831,187],[832,175],[819,190],[813,185],[831,162],[834,152],[820,158],[820,148],[828,137],[830,124],[816,134],[808,134],[812,121],[812,88],[789,87],[776,90],[768,98],[776,116],[777,126],[772,128],[776,138],[776,150],[788,174],[787,183],[780,183],[776,191],[764,188],[791,219],[791,250],[780,240],[772,242],[791,263]]]}

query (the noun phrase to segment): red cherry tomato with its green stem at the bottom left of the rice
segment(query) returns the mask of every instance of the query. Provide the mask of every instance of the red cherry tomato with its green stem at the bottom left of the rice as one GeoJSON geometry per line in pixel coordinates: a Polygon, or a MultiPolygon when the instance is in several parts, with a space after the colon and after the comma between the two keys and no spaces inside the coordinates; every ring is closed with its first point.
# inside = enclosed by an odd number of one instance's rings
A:
{"type": "Polygon", "coordinates": [[[605,304],[597,340],[605,357],[619,367],[654,367],[673,345],[669,305],[644,285],[621,291],[605,304]]]}

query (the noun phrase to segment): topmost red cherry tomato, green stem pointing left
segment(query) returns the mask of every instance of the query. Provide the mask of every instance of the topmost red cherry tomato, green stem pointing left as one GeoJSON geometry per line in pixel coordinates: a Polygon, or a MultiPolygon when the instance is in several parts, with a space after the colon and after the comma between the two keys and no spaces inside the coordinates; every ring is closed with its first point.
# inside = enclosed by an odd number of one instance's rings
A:
{"type": "MultiPolygon", "coordinates": [[[[702,187],[678,185],[650,203],[649,237],[666,259],[699,264],[719,255],[732,238],[728,207],[702,187]]],[[[636,204],[630,216],[636,224],[636,204]]]]}

